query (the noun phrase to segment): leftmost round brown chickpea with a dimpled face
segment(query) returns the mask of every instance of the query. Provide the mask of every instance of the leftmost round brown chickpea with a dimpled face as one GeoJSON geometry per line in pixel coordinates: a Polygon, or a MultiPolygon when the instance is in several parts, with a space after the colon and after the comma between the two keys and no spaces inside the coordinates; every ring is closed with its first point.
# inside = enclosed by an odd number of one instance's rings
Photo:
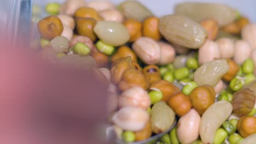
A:
{"type": "Polygon", "coordinates": [[[51,40],[63,32],[63,24],[57,16],[48,16],[37,24],[41,37],[51,40]]]}

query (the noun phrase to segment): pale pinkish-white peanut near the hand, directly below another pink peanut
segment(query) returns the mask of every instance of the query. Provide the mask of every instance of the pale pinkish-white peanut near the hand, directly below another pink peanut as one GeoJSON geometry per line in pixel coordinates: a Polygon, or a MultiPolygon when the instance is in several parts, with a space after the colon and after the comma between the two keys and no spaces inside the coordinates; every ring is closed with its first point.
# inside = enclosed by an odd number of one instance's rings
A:
{"type": "Polygon", "coordinates": [[[149,121],[149,113],[139,107],[122,107],[113,116],[113,122],[124,130],[142,130],[149,121]]]}

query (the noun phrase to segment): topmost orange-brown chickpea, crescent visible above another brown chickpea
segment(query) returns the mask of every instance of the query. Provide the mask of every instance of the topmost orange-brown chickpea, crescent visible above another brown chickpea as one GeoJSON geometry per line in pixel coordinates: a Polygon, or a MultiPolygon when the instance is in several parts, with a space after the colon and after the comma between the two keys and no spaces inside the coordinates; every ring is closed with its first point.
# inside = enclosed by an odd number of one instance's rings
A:
{"type": "Polygon", "coordinates": [[[96,21],[102,21],[102,17],[98,15],[97,11],[92,8],[88,7],[83,7],[79,8],[77,11],[75,11],[75,17],[80,17],[80,18],[92,18],[95,19],[96,21]]]}

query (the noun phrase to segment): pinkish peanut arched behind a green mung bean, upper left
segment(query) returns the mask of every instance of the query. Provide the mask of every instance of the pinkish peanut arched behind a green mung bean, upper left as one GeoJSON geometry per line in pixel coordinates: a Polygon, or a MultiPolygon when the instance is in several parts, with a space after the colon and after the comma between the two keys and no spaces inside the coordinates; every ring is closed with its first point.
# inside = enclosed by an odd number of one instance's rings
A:
{"type": "Polygon", "coordinates": [[[90,50],[94,49],[94,43],[92,43],[91,39],[83,35],[78,35],[77,37],[72,38],[69,41],[69,47],[73,47],[75,44],[79,42],[87,45],[90,48],[90,50]]]}

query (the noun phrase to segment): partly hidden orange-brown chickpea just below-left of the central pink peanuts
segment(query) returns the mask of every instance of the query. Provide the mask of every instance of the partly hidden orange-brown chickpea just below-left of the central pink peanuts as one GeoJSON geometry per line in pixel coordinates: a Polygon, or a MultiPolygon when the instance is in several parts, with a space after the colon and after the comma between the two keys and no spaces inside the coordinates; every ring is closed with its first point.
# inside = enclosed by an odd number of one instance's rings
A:
{"type": "Polygon", "coordinates": [[[130,47],[128,46],[120,46],[117,50],[116,53],[114,53],[114,55],[112,56],[111,58],[111,61],[114,62],[115,60],[119,59],[119,58],[122,58],[122,57],[127,57],[127,56],[130,56],[131,57],[131,60],[133,62],[136,62],[137,63],[137,57],[136,57],[136,54],[135,52],[133,52],[130,47]]]}

